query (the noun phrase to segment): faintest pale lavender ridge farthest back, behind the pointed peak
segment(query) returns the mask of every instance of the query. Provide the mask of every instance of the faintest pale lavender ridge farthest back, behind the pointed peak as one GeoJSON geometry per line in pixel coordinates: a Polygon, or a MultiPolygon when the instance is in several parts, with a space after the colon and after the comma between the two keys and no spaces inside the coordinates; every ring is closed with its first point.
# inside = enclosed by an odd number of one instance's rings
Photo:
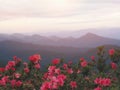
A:
{"type": "Polygon", "coordinates": [[[41,33],[44,36],[58,36],[58,37],[81,37],[87,33],[94,33],[100,35],[102,37],[120,39],[120,28],[89,28],[89,29],[81,29],[77,31],[61,31],[61,32],[49,32],[49,33],[41,33]]]}

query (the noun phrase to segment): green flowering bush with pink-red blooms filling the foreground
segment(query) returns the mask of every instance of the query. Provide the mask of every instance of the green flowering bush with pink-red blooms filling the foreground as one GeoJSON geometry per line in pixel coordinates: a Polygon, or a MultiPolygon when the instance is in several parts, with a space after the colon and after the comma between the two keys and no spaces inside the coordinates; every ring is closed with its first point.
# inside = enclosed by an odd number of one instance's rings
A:
{"type": "Polygon", "coordinates": [[[59,58],[41,70],[39,54],[23,62],[14,56],[0,68],[0,90],[120,90],[120,52],[110,49],[108,54],[99,47],[98,56],[78,63],[59,58]]]}

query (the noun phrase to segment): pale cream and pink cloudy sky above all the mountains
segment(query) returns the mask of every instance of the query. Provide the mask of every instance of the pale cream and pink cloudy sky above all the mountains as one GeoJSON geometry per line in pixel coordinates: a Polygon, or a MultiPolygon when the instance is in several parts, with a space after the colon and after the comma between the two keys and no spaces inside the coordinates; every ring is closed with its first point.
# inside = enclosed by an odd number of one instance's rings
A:
{"type": "Polygon", "coordinates": [[[0,33],[120,27],[120,0],[0,0],[0,33]]]}

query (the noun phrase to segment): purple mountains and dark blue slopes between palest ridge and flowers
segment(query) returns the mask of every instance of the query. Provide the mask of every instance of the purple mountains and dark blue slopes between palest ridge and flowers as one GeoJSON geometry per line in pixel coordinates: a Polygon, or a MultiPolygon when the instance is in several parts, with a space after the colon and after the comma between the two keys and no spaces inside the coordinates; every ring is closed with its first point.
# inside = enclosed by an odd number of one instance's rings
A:
{"type": "Polygon", "coordinates": [[[0,66],[4,66],[12,56],[16,55],[27,60],[32,54],[40,54],[42,65],[49,64],[53,58],[78,61],[80,57],[96,54],[96,47],[104,45],[120,48],[120,40],[87,33],[81,37],[59,38],[40,35],[0,34],[0,66]]]}

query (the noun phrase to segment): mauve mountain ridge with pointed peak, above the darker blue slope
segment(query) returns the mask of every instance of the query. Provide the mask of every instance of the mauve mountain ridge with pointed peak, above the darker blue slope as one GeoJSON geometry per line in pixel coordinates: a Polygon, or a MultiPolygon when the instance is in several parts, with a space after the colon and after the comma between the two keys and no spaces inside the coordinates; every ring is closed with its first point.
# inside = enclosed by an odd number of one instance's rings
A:
{"type": "Polygon", "coordinates": [[[59,38],[46,37],[38,34],[34,35],[23,35],[23,34],[12,34],[12,35],[0,35],[0,41],[11,40],[21,43],[31,43],[36,45],[47,45],[47,46],[62,46],[62,47],[75,47],[75,48],[94,48],[100,45],[118,45],[120,46],[120,40],[102,37],[93,33],[87,33],[81,37],[66,37],[59,38]]]}

